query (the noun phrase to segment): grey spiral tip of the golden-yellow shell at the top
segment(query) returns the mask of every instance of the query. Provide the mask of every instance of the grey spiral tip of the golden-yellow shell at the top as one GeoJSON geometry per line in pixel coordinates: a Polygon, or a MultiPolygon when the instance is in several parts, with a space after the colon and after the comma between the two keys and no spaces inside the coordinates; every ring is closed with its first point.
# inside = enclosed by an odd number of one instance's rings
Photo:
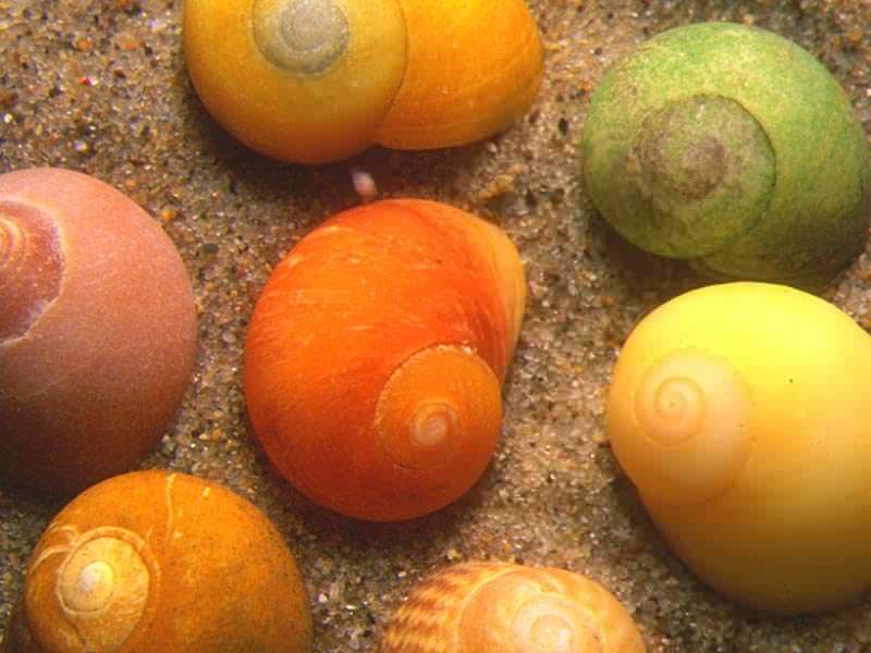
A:
{"type": "Polygon", "coordinates": [[[256,0],[252,24],[263,57],[297,75],[328,71],[347,49],[347,17],[332,0],[256,0]]]}

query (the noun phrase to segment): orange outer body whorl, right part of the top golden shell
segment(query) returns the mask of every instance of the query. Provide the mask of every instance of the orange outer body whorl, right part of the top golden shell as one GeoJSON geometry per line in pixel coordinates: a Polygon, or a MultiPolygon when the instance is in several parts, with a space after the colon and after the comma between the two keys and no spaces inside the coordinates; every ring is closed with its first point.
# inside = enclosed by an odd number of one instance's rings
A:
{"type": "Polygon", "coordinates": [[[401,0],[408,62],[376,140],[430,149],[505,130],[535,101],[542,48],[525,1],[401,0]]]}

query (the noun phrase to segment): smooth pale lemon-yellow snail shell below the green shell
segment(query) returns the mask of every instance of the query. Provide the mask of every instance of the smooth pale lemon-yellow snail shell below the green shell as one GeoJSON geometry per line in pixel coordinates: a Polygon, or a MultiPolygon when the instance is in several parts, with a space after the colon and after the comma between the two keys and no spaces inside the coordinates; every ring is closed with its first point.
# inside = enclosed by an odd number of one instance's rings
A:
{"type": "Polygon", "coordinates": [[[645,318],[614,369],[613,451],[675,552],[762,611],[871,588],[871,337],[812,295],[694,291],[645,318]]]}

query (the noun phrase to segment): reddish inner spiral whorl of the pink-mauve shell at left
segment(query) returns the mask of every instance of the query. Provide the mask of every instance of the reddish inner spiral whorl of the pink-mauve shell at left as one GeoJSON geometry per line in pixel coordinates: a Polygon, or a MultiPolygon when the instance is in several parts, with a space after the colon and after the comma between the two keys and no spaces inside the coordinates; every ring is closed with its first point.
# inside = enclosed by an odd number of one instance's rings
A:
{"type": "Polygon", "coordinates": [[[60,291],[60,235],[44,213],[0,206],[0,343],[21,337],[60,291]]]}

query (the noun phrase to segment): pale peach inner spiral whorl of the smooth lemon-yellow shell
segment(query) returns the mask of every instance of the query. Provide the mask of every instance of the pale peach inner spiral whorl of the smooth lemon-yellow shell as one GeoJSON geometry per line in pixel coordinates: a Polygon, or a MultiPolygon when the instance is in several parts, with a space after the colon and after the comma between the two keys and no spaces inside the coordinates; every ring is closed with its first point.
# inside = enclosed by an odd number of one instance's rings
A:
{"type": "Polygon", "coordinates": [[[612,385],[612,444],[643,495],[695,504],[735,482],[750,452],[752,401],[728,360],[677,349],[634,377],[633,390],[621,372],[612,385]],[[622,408],[623,392],[633,397],[630,409],[622,408]]]}

